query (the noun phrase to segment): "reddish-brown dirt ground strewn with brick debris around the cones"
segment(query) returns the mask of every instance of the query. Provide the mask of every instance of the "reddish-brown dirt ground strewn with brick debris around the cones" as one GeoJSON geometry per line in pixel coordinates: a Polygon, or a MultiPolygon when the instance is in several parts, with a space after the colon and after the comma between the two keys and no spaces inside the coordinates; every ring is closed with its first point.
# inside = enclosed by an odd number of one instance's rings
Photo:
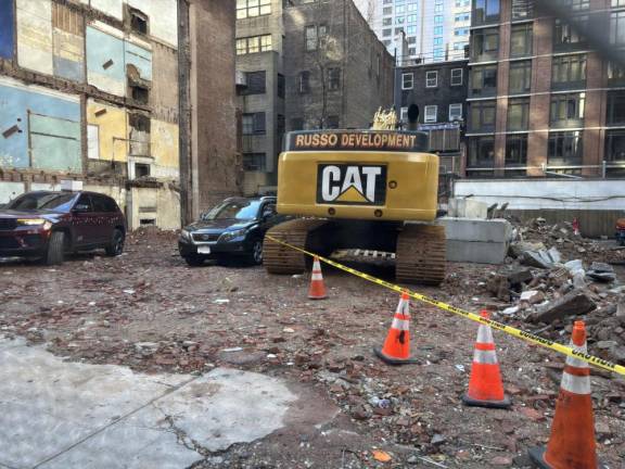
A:
{"type": "MultiPolygon", "coordinates": [[[[479,310],[489,301],[480,283],[493,269],[452,265],[441,289],[418,290],[479,310]]],[[[340,409],[321,428],[297,424],[294,414],[289,432],[206,455],[195,468],[528,467],[526,451],[549,436],[563,357],[495,331],[513,406],[464,407],[474,324],[413,303],[419,363],[388,367],[371,348],[382,345],[398,296],[327,267],[324,278],[330,297],[311,302],[308,275],[269,276],[235,264],[191,268],[177,255],[174,233],[139,232],[117,258],[79,255],[55,268],[0,264],[0,333],[142,372],[258,371],[303,395],[321,392],[328,402],[317,405],[340,409]],[[391,461],[378,461],[375,449],[391,461]]],[[[598,453],[611,469],[624,469],[625,380],[594,371],[591,381],[598,453]]]]}

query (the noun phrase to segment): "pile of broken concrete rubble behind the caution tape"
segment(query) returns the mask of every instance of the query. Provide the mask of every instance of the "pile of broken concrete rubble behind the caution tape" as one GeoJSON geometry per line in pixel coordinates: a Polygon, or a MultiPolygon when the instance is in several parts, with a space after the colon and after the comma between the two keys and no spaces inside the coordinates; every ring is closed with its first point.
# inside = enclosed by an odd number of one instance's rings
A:
{"type": "Polygon", "coordinates": [[[612,265],[623,263],[625,249],[543,218],[516,227],[515,236],[507,266],[484,284],[502,302],[499,317],[552,340],[569,337],[573,321],[584,319],[590,353],[625,364],[625,286],[612,265]]]}

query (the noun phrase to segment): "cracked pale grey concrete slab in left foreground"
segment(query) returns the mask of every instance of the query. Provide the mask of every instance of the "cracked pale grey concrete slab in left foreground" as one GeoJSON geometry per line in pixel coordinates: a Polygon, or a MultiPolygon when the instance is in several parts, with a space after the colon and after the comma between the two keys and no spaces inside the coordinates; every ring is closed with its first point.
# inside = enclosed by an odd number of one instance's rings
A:
{"type": "Polygon", "coordinates": [[[146,376],[0,338],[0,467],[182,469],[284,426],[297,396],[240,370],[146,376]]]}

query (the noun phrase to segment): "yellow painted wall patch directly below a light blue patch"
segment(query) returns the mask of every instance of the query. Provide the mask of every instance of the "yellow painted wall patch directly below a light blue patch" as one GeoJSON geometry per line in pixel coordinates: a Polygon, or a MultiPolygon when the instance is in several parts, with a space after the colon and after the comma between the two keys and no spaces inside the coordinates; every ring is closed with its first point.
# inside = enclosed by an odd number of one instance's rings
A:
{"type": "MultiPolygon", "coordinates": [[[[97,145],[99,159],[126,162],[128,142],[126,141],[126,110],[101,102],[87,102],[87,124],[97,127],[90,131],[89,144],[97,145]],[[93,141],[93,139],[98,141],[93,141]]],[[[93,155],[93,153],[91,153],[93,155]]]]}

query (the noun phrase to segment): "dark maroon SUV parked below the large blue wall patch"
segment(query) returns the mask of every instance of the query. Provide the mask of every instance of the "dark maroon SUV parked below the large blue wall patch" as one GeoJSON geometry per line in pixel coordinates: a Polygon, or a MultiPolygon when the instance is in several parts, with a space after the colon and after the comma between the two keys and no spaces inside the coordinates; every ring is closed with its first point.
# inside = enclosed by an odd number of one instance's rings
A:
{"type": "Polygon", "coordinates": [[[124,251],[126,219],[110,197],[94,192],[28,192],[0,210],[0,257],[41,257],[61,264],[65,253],[124,251]]]}

